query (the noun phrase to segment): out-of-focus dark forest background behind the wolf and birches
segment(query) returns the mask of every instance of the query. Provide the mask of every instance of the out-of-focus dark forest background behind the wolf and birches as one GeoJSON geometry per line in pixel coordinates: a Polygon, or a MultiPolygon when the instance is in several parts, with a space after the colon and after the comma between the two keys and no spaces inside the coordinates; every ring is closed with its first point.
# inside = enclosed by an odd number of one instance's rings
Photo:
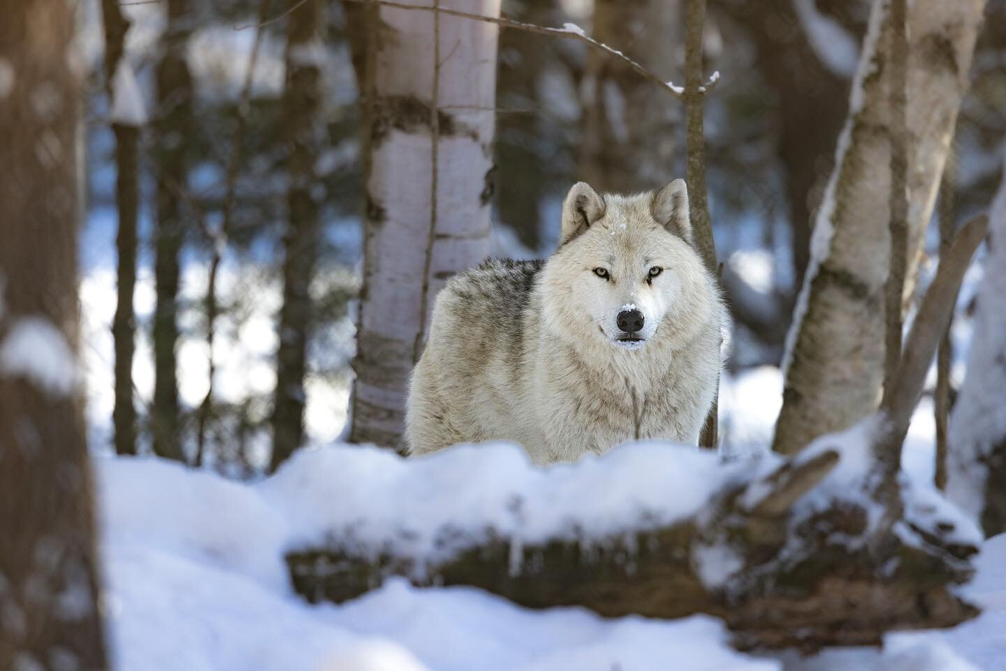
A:
{"type": "MultiPolygon", "coordinates": [[[[721,77],[705,97],[707,183],[736,321],[731,371],[780,363],[870,4],[708,1],[705,70],[721,77]]],[[[502,14],[576,24],[679,82],[683,6],[503,0],[502,14]]],[[[361,6],[81,8],[92,449],[254,477],[303,444],[337,439],[366,206],[361,6]]],[[[1004,61],[1006,0],[992,0],[941,197],[958,220],[999,183],[1004,61]]],[[[685,173],[684,107],[581,41],[502,29],[495,113],[494,256],[547,256],[576,180],[638,191],[685,173]]],[[[938,247],[933,233],[927,254],[938,247]]],[[[962,378],[963,362],[953,384],[962,378]]]]}

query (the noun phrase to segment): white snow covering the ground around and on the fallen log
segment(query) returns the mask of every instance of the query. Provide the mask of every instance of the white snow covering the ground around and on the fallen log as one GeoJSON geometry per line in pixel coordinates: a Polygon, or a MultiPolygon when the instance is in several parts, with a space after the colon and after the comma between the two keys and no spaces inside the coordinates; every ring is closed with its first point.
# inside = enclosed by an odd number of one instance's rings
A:
{"type": "MultiPolygon", "coordinates": [[[[474,589],[416,589],[401,579],[341,606],[312,606],[289,584],[283,552],[317,542],[327,529],[356,524],[359,537],[365,538],[391,535],[401,527],[408,542],[422,544],[425,524],[450,513],[430,504],[436,500],[430,490],[443,487],[445,479],[473,477],[466,469],[485,466],[500,478],[495,491],[473,488],[465,502],[456,502],[459,524],[480,516],[511,524],[512,507],[503,500],[507,492],[536,492],[539,500],[530,497],[523,516],[523,533],[533,538],[569,522],[547,513],[548,497],[556,502],[581,498],[590,494],[592,477],[621,473],[614,479],[625,480],[635,473],[637,481],[625,482],[621,493],[606,497],[595,532],[609,532],[630,521],[627,515],[634,512],[660,510],[662,504],[652,495],[681,476],[663,469],[641,478],[647,472],[641,467],[679,460],[694,476],[712,457],[641,445],[546,472],[531,467],[515,446],[468,448],[418,462],[374,449],[332,446],[306,451],[256,484],[157,459],[96,457],[105,613],[117,668],[1001,668],[1006,659],[1006,535],[985,544],[978,575],[965,590],[986,609],[976,621],[946,632],[891,635],[882,652],[840,650],[810,659],[736,653],[721,623],[708,617],[660,622],[606,620],[575,608],[530,611],[474,589]],[[574,470],[580,475],[580,491],[570,488],[575,483],[567,476],[574,470]],[[370,508],[361,505],[368,500],[370,508]]],[[[720,475],[731,477],[731,472],[720,475]]],[[[484,487],[490,479],[483,476],[480,484],[484,487]]],[[[664,513],[673,517],[702,505],[703,493],[715,482],[693,480],[684,487],[688,496],[666,501],[664,513]]]]}

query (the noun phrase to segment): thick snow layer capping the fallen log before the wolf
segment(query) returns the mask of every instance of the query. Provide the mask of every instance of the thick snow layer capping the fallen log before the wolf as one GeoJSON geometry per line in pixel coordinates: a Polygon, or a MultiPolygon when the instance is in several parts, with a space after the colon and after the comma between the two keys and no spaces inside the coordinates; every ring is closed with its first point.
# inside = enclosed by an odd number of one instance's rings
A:
{"type": "Polygon", "coordinates": [[[294,520],[293,547],[340,538],[357,551],[442,560],[489,537],[591,543],[667,525],[702,509],[746,470],[724,468],[696,448],[661,443],[548,469],[533,466],[512,444],[411,460],[340,447],[300,453],[262,488],[294,520]],[[333,491],[340,505],[324,505],[333,491]],[[439,495],[445,491],[452,496],[439,495]]]}

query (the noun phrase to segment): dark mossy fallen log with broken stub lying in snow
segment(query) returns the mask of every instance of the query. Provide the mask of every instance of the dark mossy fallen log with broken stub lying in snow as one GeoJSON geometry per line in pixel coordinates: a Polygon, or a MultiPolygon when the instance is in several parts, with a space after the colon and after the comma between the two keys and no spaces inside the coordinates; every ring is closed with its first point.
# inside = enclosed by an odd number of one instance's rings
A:
{"type": "MultiPolygon", "coordinates": [[[[490,528],[434,558],[397,553],[390,539],[361,546],[348,531],[287,561],[295,590],[314,602],[354,599],[399,575],[416,585],[476,586],[528,608],[665,619],[705,613],[725,621],[740,649],[877,645],[887,631],[974,617],[950,586],[971,576],[976,547],[919,530],[925,542],[892,533],[876,554],[858,542],[868,531],[868,499],[793,507],[824,487],[838,462],[831,450],[795,457],[765,477],[724,485],[694,515],[603,538],[521,543],[490,528]]],[[[442,529],[443,544],[456,546],[459,533],[442,529]]]]}

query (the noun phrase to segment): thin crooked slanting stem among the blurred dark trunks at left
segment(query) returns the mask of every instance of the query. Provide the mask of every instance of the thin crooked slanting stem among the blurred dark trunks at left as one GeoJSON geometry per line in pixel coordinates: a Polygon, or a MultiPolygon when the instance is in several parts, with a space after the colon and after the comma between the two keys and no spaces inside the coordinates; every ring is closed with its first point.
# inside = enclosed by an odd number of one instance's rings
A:
{"type": "MultiPolygon", "coordinates": [[[[259,9],[259,17],[263,19],[269,12],[271,0],[263,0],[262,5],[259,9]]],[[[296,7],[291,8],[293,11],[296,7]]],[[[260,26],[264,25],[264,21],[260,20],[260,26]]],[[[213,377],[216,375],[216,360],[213,358],[213,340],[215,339],[215,322],[216,315],[219,311],[219,306],[216,302],[216,276],[219,274],[220,263],[223,259],[223,251],[227,246],[227,236],[230,233],[230,227],[232,224],[233,214],[234,214],[234,197],[237,184],[237,169],[240,165],[241,160],[241,141],[244,139],[244,132],[247,127],[247,108],[248,101],[252,97],[252,80],[255,75],[256,62],[259,59],[259,49],[262,46],[263,30],[261,27],[256,29],[255,41],[252,43],[252,52],[248,54],[248,66],[247,71],[244,72],[244,82],[241,85],[241,92],[237,102],[237,128],[234,129],[234,141],[233,148],[230,152],[230,160],[227,163],[227,171],[225,173],[226,179],[226,190],[223,196],[223,218],[220,222],[220,228],[213,234],[211,231],[210,239],[213,242],[213,257],[209,264],[209,278],[206,283],[206,342],[209,346],[208,356],[208,377],[209,381],[206,386],[206,395],[203,396],[202,402],[199,404],[198,413],[198,424],[196,431],[196,453],[195,453],[195,466],[199,467],[202,465],[203,453],[205,450],[206,443],[206,423],[209,421],[209,415],[212,411],[213,406],[213,377]]]]}

